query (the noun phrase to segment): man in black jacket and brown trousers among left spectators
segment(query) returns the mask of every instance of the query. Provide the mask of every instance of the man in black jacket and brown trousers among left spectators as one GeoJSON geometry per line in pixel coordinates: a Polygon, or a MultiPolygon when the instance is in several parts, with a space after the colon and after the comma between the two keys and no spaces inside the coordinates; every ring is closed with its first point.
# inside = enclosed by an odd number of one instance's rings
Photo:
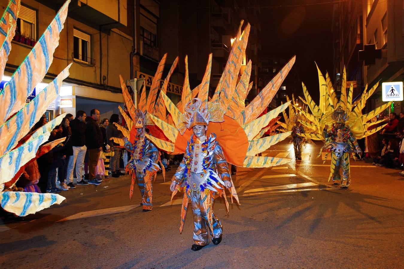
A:
{"type": "MultiPolygon", "coordinates": [[[[95,179],[95,167],[97,167],[100,152],[104,144],[103,134],[97,123],[100,119],[100,112],[98,109],[91,109],[90,116],[86,119],[86,146],[88,150],[88,183],[99,185],[100,180],[95,179]]],[[[101,179],[102,180],[102,179],[101,179]]]]}

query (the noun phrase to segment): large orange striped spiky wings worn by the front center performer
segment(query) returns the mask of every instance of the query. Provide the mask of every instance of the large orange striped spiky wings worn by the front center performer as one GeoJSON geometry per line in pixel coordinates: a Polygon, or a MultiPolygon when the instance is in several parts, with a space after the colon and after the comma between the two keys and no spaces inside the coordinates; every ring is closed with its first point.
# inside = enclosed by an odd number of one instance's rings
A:
{"type": "MultiPolygon", "coordinates": [[[[170,119],[162,120],[162,117],[154,115],[150,115],[150,117],[164,132],[168,141],[146,135],[158,148],[166,150],[167,152],[186,153],[190,155],[194,152],[192,147],[198,144],[198,146],[204,147],[204,160],[207,160],[206,167],[211,164],[212,158],[209,156],[215,154],[215,149],[220,149],[220,151],[223,152],[223,159],[227,162],[240,167],[271,167],[290,161],[290,159],[286,158],[255,155],[267,150],[271,145],[276,144],[290,135],[290,132],[288,132],[286,134],[277,134],[265,138],[261,138],[260,136],[263,127],[267,126],[272,119],[276,118],[280,112],[288,107],[290,102],[275,108],[262,117],[259,117],[259,115],[265,110],[280,88],[282,81],[295,63],[295,57],[282,68],[248,106],[245,106],[244,100],[252,87],[252,83],[249,84],[251,61],[248,62],[240,79],[238,74],[240,73],[243,55],[246,50],[250,25],[248,24],[244,31],[241,31],[242,24],[243,22],[240,23],[235,42],[227,60],[227,65],[217,85],[215,94],[210,100],[208,100],[208,90],[212,54],[209,55],[202,83],[198,86],[198,98],[195,103],[192,102],[194,96],[189,87],[187,57],[185,58],[185,80],[181,105],[176,106],[166,96],[164,91],[160,92],[159,99],[162,98],[164,101],[165,107],[170,113],[170,119]],[[208,127],[208,139],[202,143],[196,143],[192,136],[192,130],[189,128],[192,125],[191,122],[200,121],[202,119],[206,121],[208,127]]],[[[198,165],[199,164],[200,162],[198,162],[198,165]]],[[[190,168],[191,167],[189,167],[189,169],[190,168]]],[[[187,171],[189,171],[189,169],[187,171]]],[[[202,171],[205,170],[206,169],[202,169],[202,171]]],[[[225,197],[223,179],[221,179],[220,176],[218,177],[211,173],[211,171],[208,172],[208,170],[206,170],[202,179],[203,191],[201,195],[218,191],[219,194],[225,197]]],[[[182,182],[184,183],[185,179],[182,182]]],[[[185,191],[180,229],[183,227],[186,207],[189,202],[188,190],[191,187],[193,188],[193,186],[185,185],[180,188],[185,191]]],[[[196,186],[195,188],[201,187],[196,186]]],[[[173,192],[173,195],[175,192],[173,192]]],[[[231,188],[230,192],[231,199],[234,197],[238,201],[234,186],[231,188]]],[[[205,199],[205,201],[208,203],[210,199],[205,199]]],[[[228,205],[227,201],[226,205],[228,205]]],[[[210,206],[211,204],[205,205],[207,211],[210,206]]]]}

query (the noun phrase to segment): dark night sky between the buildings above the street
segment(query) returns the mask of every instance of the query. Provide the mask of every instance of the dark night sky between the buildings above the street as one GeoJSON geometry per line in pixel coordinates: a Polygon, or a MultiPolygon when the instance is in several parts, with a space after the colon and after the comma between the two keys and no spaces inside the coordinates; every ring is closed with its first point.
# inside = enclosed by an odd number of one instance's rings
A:
{"type": "MultiPolygon", "coordinates": [[[[296,54],[295,68],[313,98],[318,100],[315,61],[325,75],[332,69],[331,0],[259,0],[261,6],[260,56],[288,60],[296,54]],[[326,4],[320,4],[328,2],[326,4]],[[307,5],[314,4],[314,5],[307,5]],[[274,7],[282,6],[282,7],[274,7]]],[[[303,96],[301,87],[299,93],[303,96]]]]}

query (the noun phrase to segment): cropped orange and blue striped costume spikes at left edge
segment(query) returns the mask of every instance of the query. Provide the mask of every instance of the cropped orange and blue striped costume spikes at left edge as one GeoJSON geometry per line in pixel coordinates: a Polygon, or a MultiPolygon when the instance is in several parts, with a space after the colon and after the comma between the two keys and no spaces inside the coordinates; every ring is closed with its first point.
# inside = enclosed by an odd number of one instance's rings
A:
{"type": "MultiPolygon", "coordinates": [[[[57,98],[62,81],[69,75],[67,66],[36,97],[25,103],[27,96],[42,81],[53,60],[53,52],[59,45],[59,33],[67,16],[67,0],[46,28],[23,63],[11,76],[0,92],[0,204],[6,211],[25,216],[60,204],[64,197],[58,194],[5,191],[15,185],[24,167],[42,154],[51,150],[63,139],[44,144],[50,131],[59,125],[65,116],[48,122],[27,135],[29,130],[45,113],[47,106],[57,98]]],[[[15,34],[20,0],[11,0],[0,21],[0,77],[4,75],[11,40],[15,34]]]]}

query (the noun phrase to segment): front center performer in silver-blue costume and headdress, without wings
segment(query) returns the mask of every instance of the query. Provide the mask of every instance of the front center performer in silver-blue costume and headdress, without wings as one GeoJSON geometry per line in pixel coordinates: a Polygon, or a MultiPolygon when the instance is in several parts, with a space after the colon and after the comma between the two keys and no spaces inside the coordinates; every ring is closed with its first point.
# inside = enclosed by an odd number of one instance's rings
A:
{"type": "MultiPolygon", "coordinates": [[[[213,237],[213,244],[221,242],[222,225],[213,214],[213,200],[218,192],[223,191],[223,186],[232,186],[227,162],[215,133],[206,136],[208,115],[199,111],[200,106],[198,100],[191,109],[194,113],[191,113],[187,128],[194,134],[188,140],[187,151],[170,186],[172,192],[184,188],[187,196],[184,199],[191,200],[195,225],[191,249],[195,251],[209,244],[209,234],[213,237]]],[[[182,220],[185,213],[181,213],[182,220]]]]}

